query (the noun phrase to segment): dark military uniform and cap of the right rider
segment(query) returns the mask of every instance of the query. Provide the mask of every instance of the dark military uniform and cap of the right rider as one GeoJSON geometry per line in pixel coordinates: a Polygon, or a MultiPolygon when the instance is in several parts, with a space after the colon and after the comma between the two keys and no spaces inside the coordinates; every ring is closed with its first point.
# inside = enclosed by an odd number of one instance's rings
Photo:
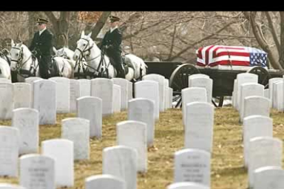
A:
{"type": "MultiPolygon", "coordinates": [[[[110,16],[110,22],[113,21],[119,21],[119,18],[116,16],[110,16]]],[[[125,78],[126,74],[121,59],[121,41],[122,35],[118,28],[113,31],[109,30],[106,32],[106,35],[102,40],[101,49],[106,52],[108,57],[113,59],[113,66],[115,66],[117,70],[117,77],[125,78]]]]}

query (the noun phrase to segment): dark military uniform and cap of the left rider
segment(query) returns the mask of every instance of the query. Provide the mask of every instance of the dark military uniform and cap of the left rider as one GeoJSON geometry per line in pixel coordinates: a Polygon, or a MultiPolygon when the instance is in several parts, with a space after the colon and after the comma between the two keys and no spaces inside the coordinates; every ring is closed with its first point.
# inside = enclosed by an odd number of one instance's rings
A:
{"type": "MultiPolygon", "coordinates": [[[[48,21],[40,18],[37,21],[38,23],[48,23],[48,21]]],[[[48,29],[45,29],[42,34],[40,34],[40,31],[37,31],[29,47],[30,51],[36,51],[36,57],[39,60],[40,76],[43,79],[49,78],[53,38],[53,34],[48,29]]]]}

